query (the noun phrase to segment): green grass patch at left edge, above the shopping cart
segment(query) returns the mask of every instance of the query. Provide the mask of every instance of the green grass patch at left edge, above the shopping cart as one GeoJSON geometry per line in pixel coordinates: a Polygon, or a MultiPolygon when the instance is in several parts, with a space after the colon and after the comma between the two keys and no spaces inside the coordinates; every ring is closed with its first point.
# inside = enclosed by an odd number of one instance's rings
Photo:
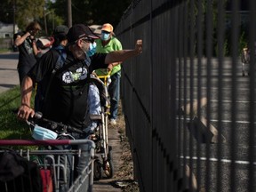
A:
{"type": "Polygon", "coordinates": [[[28,124],[20,121],[16,116],[20,107],[20,86],[1,93],[0,103],[0,139],[31,139],[28,124]]]}

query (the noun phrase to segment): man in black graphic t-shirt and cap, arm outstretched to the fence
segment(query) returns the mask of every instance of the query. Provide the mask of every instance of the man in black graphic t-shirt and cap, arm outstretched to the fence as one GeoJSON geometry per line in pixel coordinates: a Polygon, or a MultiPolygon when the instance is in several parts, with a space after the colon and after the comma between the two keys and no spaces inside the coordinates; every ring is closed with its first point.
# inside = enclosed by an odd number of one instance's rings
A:
{"type": "MultiPolygon", "coordinates": [[[[87,56],[90,44],[96,36],[92,29],[84,24],[76,24],[68,30],[67,58],[64,66],[55,73],[49,84],[48,95],[44,98],[43,116],[55,122],[62,122],[84,130],[90,124],[88,108],[88,77],[97,68],[108,68],[109,63],[122,62],[142,52],[142,40],[137,40],[133,50],[120,50],[109,53],[95,53],[87,56]]],[[[52,76],[59,53],[51,49],[31,68],[21,84],[21,103],[18,111],[20,120],[28,120],[35,115],[30,107],[33,84],[40,84],[52,76]]],[[[84,139],[84,134],[70,132],[75,139],[84,139]]],[[[78,146],[83,150],[83,145],[78,146]]],[[[80,156],[76,165],[79,174],[86,166],[86,155],[80,156]]]]}

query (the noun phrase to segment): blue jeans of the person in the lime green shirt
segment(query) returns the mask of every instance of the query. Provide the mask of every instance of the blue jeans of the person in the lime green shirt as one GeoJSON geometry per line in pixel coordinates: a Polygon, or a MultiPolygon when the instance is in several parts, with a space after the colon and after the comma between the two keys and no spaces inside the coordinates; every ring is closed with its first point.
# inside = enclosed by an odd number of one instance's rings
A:
{"type": "Polygon", "coordinates": [[[109,119],[117,118],[118,101],[120,99],[120,80],[121,70],[111,76],[111,84],[108,85],[108,93],[110,96],[110,116],[109,119]]]}

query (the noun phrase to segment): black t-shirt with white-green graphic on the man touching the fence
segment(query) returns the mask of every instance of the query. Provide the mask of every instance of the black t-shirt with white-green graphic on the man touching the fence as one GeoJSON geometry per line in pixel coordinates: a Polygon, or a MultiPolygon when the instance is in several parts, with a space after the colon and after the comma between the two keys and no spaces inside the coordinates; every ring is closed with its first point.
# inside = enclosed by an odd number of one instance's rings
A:
{"type": "Polygon", "coordinates": [[[28,76],[41,84],[44,92],[49,86],[42,111],[44,117],[76,128],[84,128],[90,123],[87,77],[96,68],[108,68],[105,64],[106,54],[94,54],[92,60],[76,60],[71,52],[67,51],[67,59],[52,77],[50,85],[49,79],[59,55],[56,50],[46,52],[29,71],[28,76]]]}

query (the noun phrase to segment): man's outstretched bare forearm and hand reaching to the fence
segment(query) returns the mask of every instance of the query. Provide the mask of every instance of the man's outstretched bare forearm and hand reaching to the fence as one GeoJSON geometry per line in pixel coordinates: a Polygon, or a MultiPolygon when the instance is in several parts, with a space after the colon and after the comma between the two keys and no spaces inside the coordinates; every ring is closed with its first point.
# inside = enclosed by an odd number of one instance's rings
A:
{"type": "Polygon", "coordinates": [[[134,50],[120,50],[109,52],[105,58],[105,63],[122,62],[129,58],[135,57],[142,52],[142,40],[137,40],[134,50]]]}

